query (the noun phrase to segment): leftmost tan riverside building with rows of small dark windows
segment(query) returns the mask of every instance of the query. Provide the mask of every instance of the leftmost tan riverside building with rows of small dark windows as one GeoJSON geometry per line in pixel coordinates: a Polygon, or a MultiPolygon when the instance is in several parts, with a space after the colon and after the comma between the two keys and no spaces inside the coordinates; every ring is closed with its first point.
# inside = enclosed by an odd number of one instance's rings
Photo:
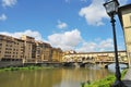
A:
{"type": "Polygon", "coordinates": [[[24,40],[0,35],[0,60],[24,58],[24,40]]]}

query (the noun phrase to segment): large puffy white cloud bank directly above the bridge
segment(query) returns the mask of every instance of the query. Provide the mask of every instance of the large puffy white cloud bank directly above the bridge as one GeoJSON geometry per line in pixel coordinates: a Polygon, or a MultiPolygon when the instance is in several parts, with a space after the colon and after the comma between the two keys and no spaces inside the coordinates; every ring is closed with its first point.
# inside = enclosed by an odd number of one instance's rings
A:
{"type": "Polygon", "coordinates": [[[93,41],[85,41],[81,36],[81,32],[78,29],[62,34],[52,34],[48,36],[48,42],[62,50],[75,50],[78,52],[114,50],[114,40],[111,38],[96,38],[93,41]]]}

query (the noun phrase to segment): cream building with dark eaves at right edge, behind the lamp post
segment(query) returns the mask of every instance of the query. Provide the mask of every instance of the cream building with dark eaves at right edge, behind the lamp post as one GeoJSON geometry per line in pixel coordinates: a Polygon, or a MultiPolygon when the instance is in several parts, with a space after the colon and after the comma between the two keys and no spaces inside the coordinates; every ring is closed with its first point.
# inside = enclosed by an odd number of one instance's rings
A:
{"type": "Polygon", "coordinates": [[[131,66],[131,4],[120,7],[118,15],[123,28],[129,65],[131,66]]]}

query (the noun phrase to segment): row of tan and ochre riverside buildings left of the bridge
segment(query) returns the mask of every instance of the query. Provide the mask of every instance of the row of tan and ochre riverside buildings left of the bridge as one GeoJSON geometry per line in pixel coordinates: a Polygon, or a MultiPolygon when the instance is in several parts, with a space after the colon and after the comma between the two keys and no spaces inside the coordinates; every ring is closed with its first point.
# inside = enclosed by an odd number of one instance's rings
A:
{"type": "Polygon", "coordinates": [[[22,60],[23,63],[37,63],[57,60],[59,62],[62,53],[60,50],[49,44],[36,41],[29,36],[22,36],[19,39],[0,35],[0,61],[22,60]]]}

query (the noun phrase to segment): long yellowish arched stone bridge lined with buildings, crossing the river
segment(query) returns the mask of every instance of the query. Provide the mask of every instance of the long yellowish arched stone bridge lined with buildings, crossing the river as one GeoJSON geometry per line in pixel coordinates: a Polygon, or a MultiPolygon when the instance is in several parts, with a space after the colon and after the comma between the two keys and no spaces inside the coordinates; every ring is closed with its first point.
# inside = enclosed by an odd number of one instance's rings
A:
{"type": "MultiPolygon", "coordinates": [[[[128,65],[128,58],[126,51],[118,52],[119,62],[128,65]]],[[[69,65],[85,66],[86,64],[99,64],[102,67],[108,67],[109,64],[115,63],[114,51],[109,52],[88,52],[88,53],[68,53],[62,58],[62,62],[69,65]]]]}

